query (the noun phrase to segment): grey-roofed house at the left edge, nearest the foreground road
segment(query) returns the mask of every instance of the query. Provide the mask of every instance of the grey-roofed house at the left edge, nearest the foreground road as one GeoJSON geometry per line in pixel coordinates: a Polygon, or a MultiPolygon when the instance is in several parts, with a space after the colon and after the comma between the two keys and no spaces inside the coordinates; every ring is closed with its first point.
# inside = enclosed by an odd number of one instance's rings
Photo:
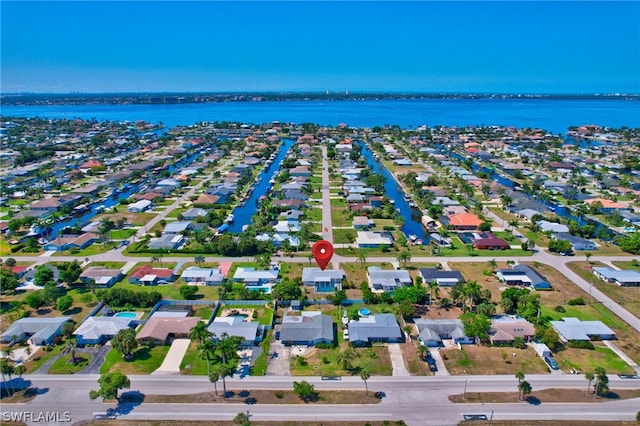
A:
{"type": "Polygon", "coordinates": [[[21,318],[0,334],[0,341],[9,343],[15,337],[17,342],[50,345],[56,336],[62,334],[62,326],[70,319],[71,317],[21,318]]]}

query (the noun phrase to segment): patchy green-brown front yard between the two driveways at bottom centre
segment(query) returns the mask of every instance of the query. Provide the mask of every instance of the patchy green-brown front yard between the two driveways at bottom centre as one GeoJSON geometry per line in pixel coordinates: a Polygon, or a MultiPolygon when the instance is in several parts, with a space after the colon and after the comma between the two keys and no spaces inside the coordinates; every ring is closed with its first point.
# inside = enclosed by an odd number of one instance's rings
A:
{"type": "Polygon", "coordinates": [[[372,376],[390,376],[393,372],[391,357],[386,346],[373,346],[370,348],[353,348],[356,353],[352,360],[353,368],[345,370],[338,363],[340,350],[347,347],[343,343],[342,348],[318,349],[312,348],[309,353],[300,357],[291,358],[292,376],[352,376],[357,375],[361,368],[366,368],[372,376]]]}

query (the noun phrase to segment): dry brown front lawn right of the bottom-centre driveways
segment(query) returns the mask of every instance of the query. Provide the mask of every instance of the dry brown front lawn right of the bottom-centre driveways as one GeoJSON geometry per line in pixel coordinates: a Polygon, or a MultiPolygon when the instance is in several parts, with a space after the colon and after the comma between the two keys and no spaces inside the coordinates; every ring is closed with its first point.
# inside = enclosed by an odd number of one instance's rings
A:
{"type": "Polygon", "coordinates": [[[463,345],[462,349],[441,349],[442,359],[453,375],[462,374],[510,374],[523,371],[525,374],[543,374],[549,368],[542,358],[529,347],[492,347],[463,345]],[[507,355],[503,359],[503,353],[507,355]],[[515,356],[514,356],[515,354],[515,356]]]}

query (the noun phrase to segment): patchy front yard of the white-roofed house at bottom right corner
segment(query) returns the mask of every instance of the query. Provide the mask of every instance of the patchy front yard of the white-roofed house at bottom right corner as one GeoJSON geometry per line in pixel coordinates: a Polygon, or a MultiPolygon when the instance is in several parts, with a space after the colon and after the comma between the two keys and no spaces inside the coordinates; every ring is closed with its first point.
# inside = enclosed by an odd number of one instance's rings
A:
{"type": "Polygon", "coordinates": [[[603,367],[609,374],[633,374],[633,369],[611,349],[599,346],[598,342],[594,342],[594,345],[594,350],[566,348],[553,357],[565,372],[573,369],[586,373],[594,371],[596,367],[603,367]]]}

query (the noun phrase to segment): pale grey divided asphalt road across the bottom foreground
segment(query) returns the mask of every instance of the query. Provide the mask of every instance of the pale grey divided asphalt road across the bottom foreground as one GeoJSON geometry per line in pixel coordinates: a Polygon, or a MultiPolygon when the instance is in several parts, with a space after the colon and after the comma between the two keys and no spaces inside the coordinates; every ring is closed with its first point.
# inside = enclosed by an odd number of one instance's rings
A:
{"type": "MultiPolygon", "coordinates": [[[[494,419],[576,419],[576,420],[632,420],[640,407],[640,398],[600,403],[542,403],[527,402],[509,404],[453,404],[447,396],[467,392],[516,391],[517,379],[512,376],[446,376],[446,377],[372,377],[369,389],[383,391],[380,404],[372,405],[255,405],[246,404],[151,404],[122,405],[89,401],[89,390],[96,388],[97,375],[47,376],[31,375],[25,379],[43,393],[26,405],[3,404],[6,412],[63,412],[69,411],[73,422],[106,414],[115,409],[119,417],[131,420],[230,420],[239,412],[250,411],[254,420],[394,420],[403,419],[409,425],[454,425],[463,414],[484,414],[493,411],[494,419]]],[[[167,386],[166,377],[131,376],[131,391],[143,394],[180,394],[211,391],[206,377],[172,377],[167,386]]],[[[240,391],[252,389],[291,389],[293,380],[308,380],[318,390],[363,390],[359,377],[345,377],[339,381],[323,381],[318,377],[245,377],[227,381],[228,389],[240,391]]],[[[527,376],[533,389],[548,387],[586,388],[582,375],[531,375],[527,376]]],[[[612,389],[637,389],[640,379],[610,377],[612,389]]],[[[29,424],[43,424],[28,422],[29,424]]],[[[46,424],[69,424],[48,422],[46,424]]]]}

